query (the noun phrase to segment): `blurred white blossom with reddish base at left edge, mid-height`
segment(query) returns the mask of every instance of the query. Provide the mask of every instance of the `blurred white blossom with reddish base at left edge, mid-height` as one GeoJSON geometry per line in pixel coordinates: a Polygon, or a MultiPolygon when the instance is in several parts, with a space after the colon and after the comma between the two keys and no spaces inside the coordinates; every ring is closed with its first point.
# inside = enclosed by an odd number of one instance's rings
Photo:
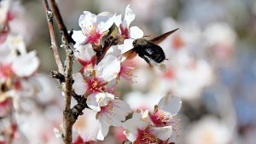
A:
{"type": "Polygon", "coordinates": [[[39,66],[36,52],[26,53],[24,42],[20,37],[10,35],[0,46],[0,55],[0,82],[9,81],[16,89],[19,88],[20,80],[32,76],[39,66]]]}

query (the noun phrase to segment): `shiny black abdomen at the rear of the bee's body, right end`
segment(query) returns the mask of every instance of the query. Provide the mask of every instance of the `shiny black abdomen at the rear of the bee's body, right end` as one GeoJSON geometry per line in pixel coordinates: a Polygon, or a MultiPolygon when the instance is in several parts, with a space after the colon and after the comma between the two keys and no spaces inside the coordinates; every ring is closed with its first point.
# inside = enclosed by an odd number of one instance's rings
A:
{"type": "Polygon", "coordinates": [[[159,46],[144,49],[144,55],[147,55],[150,59],[158,63],[166,59],[164,51],[159,46]]]}

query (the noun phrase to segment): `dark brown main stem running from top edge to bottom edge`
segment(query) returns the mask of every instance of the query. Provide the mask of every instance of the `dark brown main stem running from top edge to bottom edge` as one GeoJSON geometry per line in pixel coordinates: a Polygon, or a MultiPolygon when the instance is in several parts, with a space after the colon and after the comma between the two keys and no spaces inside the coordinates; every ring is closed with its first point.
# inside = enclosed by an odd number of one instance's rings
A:
{"type": "Polygon", "coordinates": [[[66,49],[66,67],[65,67],[65,84],[63,84],[62,89],[65,93],[65,103],[63,111],[63,141],[65,144],[71,144],[72,141],[72,127],[76,121],[76,118],[73,116],[73,112],[70,108],[71,98],[72,98],[72,69],[73,69],[73,38],[67,32],[67,27],[65,26],[59,8],[55,3],[55,0],[49,0],[53,14],[55,15],[55,20],[57,26],[61,31],[64,47],[66,49]]]}

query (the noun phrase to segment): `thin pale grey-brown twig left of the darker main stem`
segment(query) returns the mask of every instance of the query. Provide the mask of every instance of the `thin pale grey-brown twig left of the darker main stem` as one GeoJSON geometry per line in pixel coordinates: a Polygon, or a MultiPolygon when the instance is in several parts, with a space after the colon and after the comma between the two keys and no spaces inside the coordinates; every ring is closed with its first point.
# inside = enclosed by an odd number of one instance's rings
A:
{"type": "Polygon", "coordinates": [[[49,5],[47,0],[42,0],[43,5],[44,5],[44,12],[46,14],[47,18],[47,23],[49,27],[49,36],[50,36],[50,42],[51,42],[51,49],[53,50],[53,54],[55,56],[55,62],[58,66],[58,70],[61,73],[64,73],[64,68],[63,64],[61,62],[61,57],[59,55],[58,47],[57,47],[57,42],[55,39],[55,32],[54,32],[54,25],[53,25],[53,14],[51,10],[49,9],[49,5]]]}

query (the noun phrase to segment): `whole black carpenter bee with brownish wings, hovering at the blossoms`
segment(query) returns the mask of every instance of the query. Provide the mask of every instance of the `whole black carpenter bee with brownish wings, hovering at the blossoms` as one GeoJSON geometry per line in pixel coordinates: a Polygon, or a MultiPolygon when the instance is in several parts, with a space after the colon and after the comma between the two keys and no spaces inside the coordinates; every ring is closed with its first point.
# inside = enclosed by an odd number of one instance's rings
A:
{"type": "Polygon", "coordinates": [[[167,59],[164,50],[158,45],[158,43],[165,40],[166,37],[171,35],[173,32],[176,32],[177,30],[178,28],[170,32],[166,32],[159,37],[154,37],[151,40],[144,38],[135,39],[132,43],[133,49],[126,52],[125,57],[131,59],[136,55],[139,55],[141,58],[147,61],[149,66],[152,66],[150,60],[160,64],[162,61],[167,59]]]}

